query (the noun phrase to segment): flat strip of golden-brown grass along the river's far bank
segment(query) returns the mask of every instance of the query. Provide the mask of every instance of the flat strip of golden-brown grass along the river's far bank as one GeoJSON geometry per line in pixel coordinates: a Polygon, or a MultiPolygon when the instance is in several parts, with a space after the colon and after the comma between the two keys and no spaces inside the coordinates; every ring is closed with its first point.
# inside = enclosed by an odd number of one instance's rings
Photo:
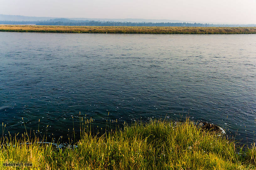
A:
{"type": "Polygon", "coordinates": [[[96,27],[0,25],[3,32],[141,33],[141,34],[255,34],[256,27],[96,27]]]}

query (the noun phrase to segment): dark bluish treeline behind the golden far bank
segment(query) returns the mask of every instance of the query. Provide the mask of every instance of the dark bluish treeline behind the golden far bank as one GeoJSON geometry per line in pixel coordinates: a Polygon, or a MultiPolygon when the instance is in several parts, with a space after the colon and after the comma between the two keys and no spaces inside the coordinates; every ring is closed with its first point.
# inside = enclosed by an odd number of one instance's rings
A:
{"type": "Polygon", "coordinates": [[[89,21],[70,20],[66,18],[50,19],[47,21],[0,21],[0,24],[35,24],[35,25],[56,25],[56,26],[143,26],[143,27],[256,27],[256,24],[208,24],[188,22],[113,22],[113,21],[89,21]]]}

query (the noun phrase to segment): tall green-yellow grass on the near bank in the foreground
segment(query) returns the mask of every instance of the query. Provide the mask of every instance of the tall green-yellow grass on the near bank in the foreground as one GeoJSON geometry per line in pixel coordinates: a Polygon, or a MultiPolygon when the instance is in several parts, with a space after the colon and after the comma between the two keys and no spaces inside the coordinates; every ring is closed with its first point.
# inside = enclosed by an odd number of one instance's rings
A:
{"type": "Polygon", "coordinates": [[[32,169],[51,170],[209,170],[255,169],[256,166],[254,146],[242,150],[234,142],[196,128],[190,121],[151,121],[126,126],[108,136],[81,135],[82,140],[75,149],[57,150],[50,144],[27,139],[9,140],[10,145],[3,145],[0,151],[0,169],[4,169],[3,163],[17,162],[33,163],[32,169]]]}

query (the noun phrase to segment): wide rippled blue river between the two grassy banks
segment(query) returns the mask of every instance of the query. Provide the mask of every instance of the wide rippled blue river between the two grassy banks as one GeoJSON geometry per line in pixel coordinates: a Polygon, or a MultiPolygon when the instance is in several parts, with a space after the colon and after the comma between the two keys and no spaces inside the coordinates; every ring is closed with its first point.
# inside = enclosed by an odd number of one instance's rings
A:
{"type": "Polygon", "coordinates": [[[256,35],[0,32],[4,135],[67,136],[85,115],[96,131],[189,117],[256,142],[256,35]]]}

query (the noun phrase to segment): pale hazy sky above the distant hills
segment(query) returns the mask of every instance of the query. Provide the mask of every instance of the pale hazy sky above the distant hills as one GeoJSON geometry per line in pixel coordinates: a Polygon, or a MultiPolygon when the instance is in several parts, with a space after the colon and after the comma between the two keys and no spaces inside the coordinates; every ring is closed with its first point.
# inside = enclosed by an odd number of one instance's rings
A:
{"type": "Polygon", "coordinates": [[[256,0],[0,0],[0,14],[256,24],[256,0]]]}

